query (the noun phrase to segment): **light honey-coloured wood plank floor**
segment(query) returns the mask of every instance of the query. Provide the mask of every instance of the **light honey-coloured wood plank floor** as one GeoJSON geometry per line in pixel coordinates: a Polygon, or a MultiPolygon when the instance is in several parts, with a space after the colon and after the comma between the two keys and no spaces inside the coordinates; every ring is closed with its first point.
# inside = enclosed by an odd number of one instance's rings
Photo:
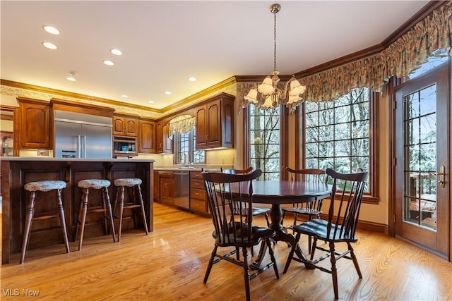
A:
{"type": "MultiPolygon", "coordinates": [[[[30,250],[25,264],[18,254],[1,266],[1,300],[244,300],[241,267],[229,262],[213,266],[203,284],[213,248],[208,218],[155,204],[154,232],[123,233],[83,240],[82,252],[71,242],[30,250]],[[26,293],[39,293],[26,297],[26,293]],[[16,297],[17,299],[17,297],[16,297]]],[[[264,225],[263,220],[258,221],[264,225]]],[[[452,264],[381,233],[359,231],[355,250],[362,271],[352,262],[338,262],[340,300],[452,300],[452,264]]],[[[307,240],[301,242],[307,249],[307,240]]],[[[331,275],[292,262],[283,268],[288,248],[274,247],[280,271],[251,280],[252,300],[333,300],[331,275]]],[[[257,253],[256,248],[256,253],[257,253]]],[[[329,261],[326,260],[328,264],[329,261]]]]}

